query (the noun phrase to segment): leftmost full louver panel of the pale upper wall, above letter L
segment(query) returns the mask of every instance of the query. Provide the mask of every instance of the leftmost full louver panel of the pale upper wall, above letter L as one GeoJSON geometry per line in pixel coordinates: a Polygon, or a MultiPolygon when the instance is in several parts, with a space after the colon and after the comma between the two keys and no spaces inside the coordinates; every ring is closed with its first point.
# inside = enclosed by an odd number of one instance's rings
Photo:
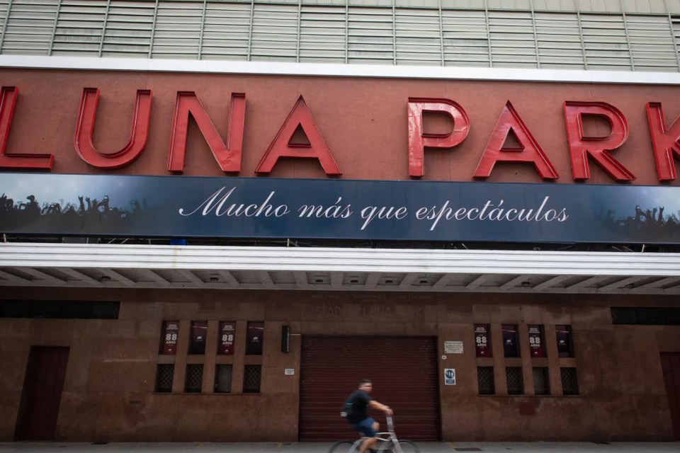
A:
{"type": "Polygon", "coordinates": [[[2,53],[47,55],[52,46],[57,6],[57,0],[13,0],[2,53]]]}

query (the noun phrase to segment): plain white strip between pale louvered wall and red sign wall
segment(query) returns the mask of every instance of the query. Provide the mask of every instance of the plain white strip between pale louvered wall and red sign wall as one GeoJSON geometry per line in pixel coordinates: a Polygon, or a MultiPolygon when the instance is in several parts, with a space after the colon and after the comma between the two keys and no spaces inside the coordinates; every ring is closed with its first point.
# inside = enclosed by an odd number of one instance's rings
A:
{"type": "Polygon", "coordinates": [[[407,65],[390,66],[382,64],[239,62],[108,57],[47,57],[35,55],[0,55],[0,68],[680,85],[680,74],[677,72],[465,68],[407,65]]]}

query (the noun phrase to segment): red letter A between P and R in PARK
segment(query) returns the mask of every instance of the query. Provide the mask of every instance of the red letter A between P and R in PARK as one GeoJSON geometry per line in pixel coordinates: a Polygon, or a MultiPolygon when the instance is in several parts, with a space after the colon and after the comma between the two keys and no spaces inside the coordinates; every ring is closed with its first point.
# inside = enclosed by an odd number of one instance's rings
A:
{"type": "Polygon", "coordinates": [[[487,143],[487,149],[484,150],[482,159],[475,170],[475,178],[488,178],[496,162],[531,162],[541,178],[557,179],[560,177],[510,101],[501,111],[496,127],[487,143]],[[519,148],[503,147],[510,131],[514,133],[519,148]]]}

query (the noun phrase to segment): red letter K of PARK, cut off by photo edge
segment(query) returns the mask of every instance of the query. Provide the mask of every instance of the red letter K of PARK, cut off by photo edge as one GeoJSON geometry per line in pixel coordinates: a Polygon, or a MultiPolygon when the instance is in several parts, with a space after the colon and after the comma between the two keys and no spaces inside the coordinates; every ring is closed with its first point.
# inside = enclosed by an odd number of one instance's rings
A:
{"type": "Polygon", "coordinates": [[[660,181],[674,180],[677,174],[673,153],[680,158],[680,117],[677,117],[671,127],[667,128],[661,103],[648,102],[647,120],[650,123],[654,159],[657,161],[657,176],[660,181]]]}

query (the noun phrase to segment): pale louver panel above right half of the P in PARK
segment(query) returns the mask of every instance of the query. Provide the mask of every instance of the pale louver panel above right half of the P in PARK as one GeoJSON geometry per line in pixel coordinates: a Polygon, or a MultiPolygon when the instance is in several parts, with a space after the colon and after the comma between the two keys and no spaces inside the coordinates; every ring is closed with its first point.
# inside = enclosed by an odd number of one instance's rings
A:
{"type": "Polygon", "coordinates": [[[484,11],[441,11],[446,66],[489,67],[489,33],[484,11]]]}

